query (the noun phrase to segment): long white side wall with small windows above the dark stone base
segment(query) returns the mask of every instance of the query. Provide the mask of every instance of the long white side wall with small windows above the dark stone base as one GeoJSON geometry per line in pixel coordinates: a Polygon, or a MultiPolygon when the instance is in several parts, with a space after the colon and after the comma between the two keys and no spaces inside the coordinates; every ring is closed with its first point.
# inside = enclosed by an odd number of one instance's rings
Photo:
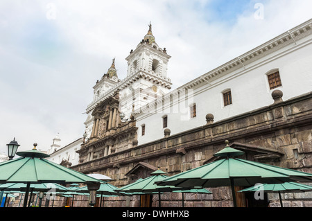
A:
{"type": "MultiPolygon", "coordinates": [[[[156,114],[150,112],[137,114],[139,145],[164,137],[162,128],[164,114],[168,116],[168,128],[173,135],[205,125],[206,114],[213,114],[216,122],[271,105],[273,103],[271,93],[275,89],[269,89],[266,75],[268,71],[278,69],[282,86],[276,89],[283,92],[283,100],[312,91],[311,43],[312,36],[308,35],[298,39],[296,44],[291,42],[254,62],[245,64],[245,67],[241,66],[234,71],[229,69],[220,77],[210,78],[211,84],[202,80],[200,84],[188,88],[189,94],[193,96],[187,96],[187,100],[180,96],[180,102],[177,102],[177,93],[171,92],[173,105],[170,105],[170,99],[165,99],[165,111],[159,109],[156,114]],[[231,89],[232,105],[224,107],[223,91],[226,89],[231,89]],[[192,103],[196,103],[196,118],[190,118],[189,105],[192,103]],[[141,125],[145,125],[144,136],[141,135],[141,125]]],[[[189,85],[191,83],[192,81],[189,85]]],[[[188,84],[179,88],[182,94],[183,89],[187,87],[188,84]]]]}

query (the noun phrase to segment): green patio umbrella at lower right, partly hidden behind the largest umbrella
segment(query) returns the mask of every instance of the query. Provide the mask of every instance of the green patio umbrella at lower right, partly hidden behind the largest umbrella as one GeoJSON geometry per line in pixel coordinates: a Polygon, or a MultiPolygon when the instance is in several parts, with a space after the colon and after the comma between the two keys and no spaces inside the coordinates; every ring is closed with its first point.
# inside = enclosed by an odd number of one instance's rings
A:
{"type": "Polygon", "coordinates": [[[279,202],[281,207],[283,207],[283,203],[281,202],[281,193],[300,193],[300,192],[307,192],[312,191],[312,186],[298,184],[295,182],[286,182],[284,184],[260,184],[251,186],[250,188],[245,188],[239,192],[257,192],[257,191],[265,191],[268,193],[275,193],[279,194],[279,202]]]}

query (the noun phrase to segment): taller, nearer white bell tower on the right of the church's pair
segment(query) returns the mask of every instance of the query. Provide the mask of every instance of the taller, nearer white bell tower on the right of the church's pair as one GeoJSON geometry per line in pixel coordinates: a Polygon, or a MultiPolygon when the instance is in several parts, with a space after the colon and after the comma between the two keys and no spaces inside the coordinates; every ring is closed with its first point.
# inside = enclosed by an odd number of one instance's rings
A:
{"type": "Polygon", "coordinates": [[[171,79],[167,77],[168,60],[171,58],[166,53],[166,48],[160,48],[155,42],[152,25],[149,24],[148,33],[130,51],[125,60],[128,62],[126,80],[128,87],[121,89],[121,110],[126,116],[135,109],[161,98],[171,89],[171,79]]]}

